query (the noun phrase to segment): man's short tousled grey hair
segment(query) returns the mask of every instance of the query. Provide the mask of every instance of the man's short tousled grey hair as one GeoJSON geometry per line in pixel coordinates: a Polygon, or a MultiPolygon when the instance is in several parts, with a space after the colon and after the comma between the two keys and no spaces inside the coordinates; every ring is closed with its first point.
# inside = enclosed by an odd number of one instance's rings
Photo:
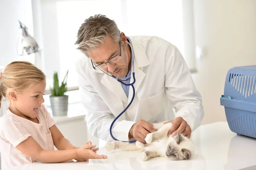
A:
{"type": "Polygon", "coordinates": [[[78,33],[77,41],[79,50],[88,56],[88,52],[99,47],[110,36],[114,42],[119,42],[120,31],[114,20],[110,20],[105,15],[96,14],[84,20],[78,33]]]}

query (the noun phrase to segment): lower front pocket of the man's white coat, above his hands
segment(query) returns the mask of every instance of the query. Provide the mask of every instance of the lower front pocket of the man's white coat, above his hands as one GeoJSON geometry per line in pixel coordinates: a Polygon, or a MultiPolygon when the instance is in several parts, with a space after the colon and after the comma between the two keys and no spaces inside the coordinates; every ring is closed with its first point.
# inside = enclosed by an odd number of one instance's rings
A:
{"type": "Polygon", "coordinates": [[[144,119],[145,121],[154,121],[159,113],[163,111],[165,105],[165,88],[159,94],[145,97],[139,100],[136,121],[144,119]]]}

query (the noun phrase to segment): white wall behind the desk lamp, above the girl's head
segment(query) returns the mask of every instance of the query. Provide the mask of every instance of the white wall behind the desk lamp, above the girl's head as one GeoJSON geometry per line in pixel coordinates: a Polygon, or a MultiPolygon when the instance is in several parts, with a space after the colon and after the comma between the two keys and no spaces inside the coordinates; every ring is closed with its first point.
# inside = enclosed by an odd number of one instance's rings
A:
{"type": "Polygon", "coordinates": [[[19,39],[20,20],[29,28],[33,35],[31,0],[1,0],[0,1],[0,66],[14,60],[34,62],[34,56],[21,57],[17,55],[17,41],[19,39]]]}

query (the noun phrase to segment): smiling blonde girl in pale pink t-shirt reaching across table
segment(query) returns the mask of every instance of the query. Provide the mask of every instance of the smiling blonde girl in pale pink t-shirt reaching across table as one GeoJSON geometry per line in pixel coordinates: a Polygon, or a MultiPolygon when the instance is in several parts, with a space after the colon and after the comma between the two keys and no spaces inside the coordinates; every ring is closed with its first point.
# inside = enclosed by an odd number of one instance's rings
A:
{"type": "Polygon", "coordinates": [[[44,73],[30,62],[12,62],[0,73],[0,101],[4,96],[9,102],[6,114],[0,117],[2,168],[34,161],[107,159],[96,154],[99,148],[91,142],[74,147],[62,135],[42,105],[45,87],[44,73]]]}

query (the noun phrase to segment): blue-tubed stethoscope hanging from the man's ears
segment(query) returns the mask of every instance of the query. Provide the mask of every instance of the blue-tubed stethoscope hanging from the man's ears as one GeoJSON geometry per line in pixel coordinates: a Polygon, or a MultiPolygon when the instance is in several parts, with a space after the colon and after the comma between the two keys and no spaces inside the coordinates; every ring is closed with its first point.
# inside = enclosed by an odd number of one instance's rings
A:
{"type": "MultiPolygon", "coordinates": [[[[130,40],[128,37],[127,37],[127,39],[130,40]]],[[[130,40],[130,41],[131,41],[131,40],[130,40]]],[[[132,77],[133,77],[134,81],[133,81],[132,83],[130,83],[130,84],[125,84],[126,81],[128,81],[128,80],[131,79],[131,77],[128,78],[128,79],[126,79],[126,80],[122,80],[122,79],[119,79],[119,78],[117,78],[117,77],[113,77],[111,74],[108,74],[108,73],[106,73],[105,71],[102,70],[105,74],[107,74],[107,75],[109,75],[110,77],[116,79],[116,80],[117,80],[118,82],[120,82],[121,84],[123,84],[123,85],[125,85],[125,86],[130,86],[130,85],[131,85],[132,90],[133,90],[133,95],[132,95],[132,98],[131,98],[130,103],[126,106],[126,108],[125,108],[118,116],[116,116],[116,118],[113,120],[113,122],[112,122],[111,125],[110,125],[110,129],[109,129],[110,136],[111,136],[112,139],[114,139],[115,141],[119,141],[119,140],[116,139],[116,138],[113,136],[113,134],[112,134],[112,127],[113,127],[114,123],[116,122],[116,120],[117,120],[123,113],[125,113],[125,111],[130,107],[131,103],[132,103],[133,100],[134,100],[134,96],[135,96],[134,83],[136,82],[136,79],[135,79],[135,72],[134,72],[134,68],[135,68],[135,66],[134,66],[134,62],[135,62],[135,60],[134,60],[134,51],[133,51],[132,45],[131,45],[128,41],[125,41],[125,42],[128,43],[128,44],[130,45],[130,47],[131,47],[131,56],[132,56],[132,58],[133,58],[132,77]]],[[[137,141],[137,140],[122,141],[122,142],[133,143],[133,142],[136,142],[136,141],[137,141]]]]}

